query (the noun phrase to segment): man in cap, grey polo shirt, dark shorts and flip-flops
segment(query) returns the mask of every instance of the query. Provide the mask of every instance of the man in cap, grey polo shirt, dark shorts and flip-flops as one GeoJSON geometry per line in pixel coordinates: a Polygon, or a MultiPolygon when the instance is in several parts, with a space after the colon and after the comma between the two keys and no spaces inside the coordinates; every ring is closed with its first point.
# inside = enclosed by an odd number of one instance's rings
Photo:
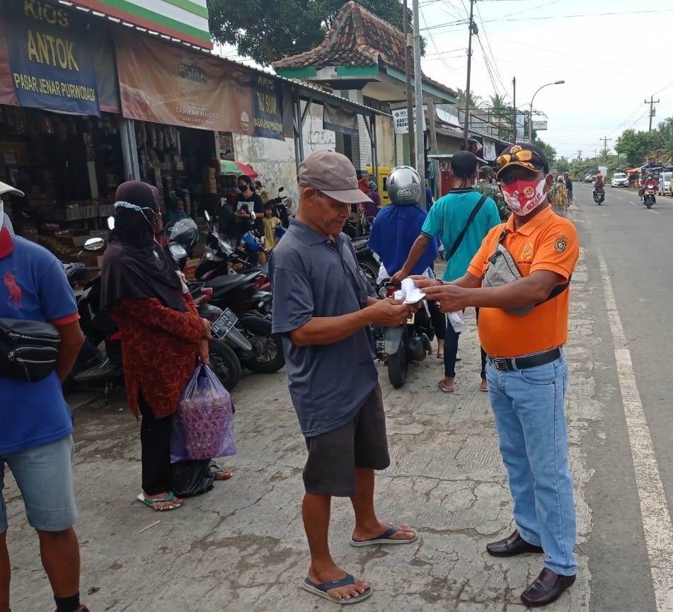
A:
{"type": "Polygon", "coordinates": [[[379,521],[374,470],[390,464],[381,388],[369,325],[401,325],[412,306],[368,295],[350,240],[342,233],[351,204],[368,200],[355,168],[331,151],[299,168],[299,209],[270,261],[273,332],[282,334],[287,378],[309,457],[303,516],[311,550],[307,591],[337,603],[372,593],[334,562],[328,546],[330,502],[350,497],[353,546],[415,541],[415,531],[379,521]]]}

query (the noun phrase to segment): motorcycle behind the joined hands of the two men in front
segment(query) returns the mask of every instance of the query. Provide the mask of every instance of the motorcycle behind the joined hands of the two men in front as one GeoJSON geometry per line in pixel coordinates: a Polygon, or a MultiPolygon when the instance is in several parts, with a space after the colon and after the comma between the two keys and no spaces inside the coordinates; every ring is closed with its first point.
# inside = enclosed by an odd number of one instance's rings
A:
{"type": "MultiPolygon", "coordinates": [[[[390,279],[386,279],[379,284],[378,293],[381,298],[393,297],[395,289],[390,279]]],[[[421,362],[432,353],[430,342],[435,338],[435,328],[425,300],[405,325],[395,328],[372,325],[372,333],[376,357],[388,365],[388,378],[396,389],[406,382],[410,362],[421,362]]]]}

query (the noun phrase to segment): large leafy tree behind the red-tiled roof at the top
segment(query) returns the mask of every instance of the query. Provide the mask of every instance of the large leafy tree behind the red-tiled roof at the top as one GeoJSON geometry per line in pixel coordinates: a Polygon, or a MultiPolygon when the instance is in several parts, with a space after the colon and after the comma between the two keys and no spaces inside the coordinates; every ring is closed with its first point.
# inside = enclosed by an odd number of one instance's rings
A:
{"type": "MultiPolygon", "coordinates": [[[[317,47],[345,0],[208,0],[213,40],[268,66],[277,59],[317,47]]],[[[403,28],[398,0],[359,0],[368,11],[403,28]]],[[[411,11],[409,18],[411,19],[411,11]]],[[[410,22],[411,23],[411,22],[410,22]]],[[[421,39],[421,54],[425,40],[421,39]]]]}

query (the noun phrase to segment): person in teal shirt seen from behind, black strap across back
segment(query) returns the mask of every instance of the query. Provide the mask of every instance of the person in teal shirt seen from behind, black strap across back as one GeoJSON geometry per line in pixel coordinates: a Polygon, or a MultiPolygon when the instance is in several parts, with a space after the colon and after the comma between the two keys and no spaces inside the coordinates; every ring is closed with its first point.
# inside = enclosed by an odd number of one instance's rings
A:
{"type": "MultiPolygon", "coordinates": [[[[430,241],[437,236],[444,245],[444,257],[447,258],[442,279],[448,282],[467,272],[488,231],[500,223],[500,214],[493,199],[485,197],[481,202],[481,193],[473,188],[477,161],[476,156],[469,151],[460,151],[451,157],[454,188],[432,205],[420,236],[416,238],[402,270],[392,277],[392,282],[399,284],[411,274],[430,241]]],[[[437,383],[444,393],[454,391],[459,336],[451,324],[447,323],[447,333],[444,335],[444,379],[437,383]]],[[[482,349],[480,388],[481,391],[488,392],[485,369],[486,354],[482,349]]]]}

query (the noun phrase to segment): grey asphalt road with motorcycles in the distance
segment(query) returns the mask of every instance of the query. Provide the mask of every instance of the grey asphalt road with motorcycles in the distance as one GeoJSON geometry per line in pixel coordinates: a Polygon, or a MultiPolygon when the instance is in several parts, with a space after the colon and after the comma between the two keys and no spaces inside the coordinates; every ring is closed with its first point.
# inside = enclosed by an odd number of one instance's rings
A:
{"type": "Polygon", "coordinates": [[[673,551],[656,549],[670,541],[672,529],[669,516],[660,511],[662,504],[670,508],[673,503],[673,200],[657,197],[648,211],[633,190],[606,187],[605,202],[598,207],[590,185],[575,185],[575,201],[571,218],[580,232],[592,289],[589,308],[600,340],[594,379],[603,405],[603,422],[584,440],[587,464],[594,470],[587,485],[590,609],[668,611],[673,609],[673,551]],[[606,284],[614,295],[611,305],[606,284]],[[614,337],[614,329],[611,333],[615,313],[622,338],[614,337]],[[616,355],[630,357],[632,376],[616,355]],[[644,436],[628,427],[633,410],[641,417],[644,436]],[[659,505],[653,509],[648,496],[657,492],[659,505]],[[644,524],[650,525],[649,534],[644,524]],[[664,576],[657,579],[659,572],[664,576]]]}

